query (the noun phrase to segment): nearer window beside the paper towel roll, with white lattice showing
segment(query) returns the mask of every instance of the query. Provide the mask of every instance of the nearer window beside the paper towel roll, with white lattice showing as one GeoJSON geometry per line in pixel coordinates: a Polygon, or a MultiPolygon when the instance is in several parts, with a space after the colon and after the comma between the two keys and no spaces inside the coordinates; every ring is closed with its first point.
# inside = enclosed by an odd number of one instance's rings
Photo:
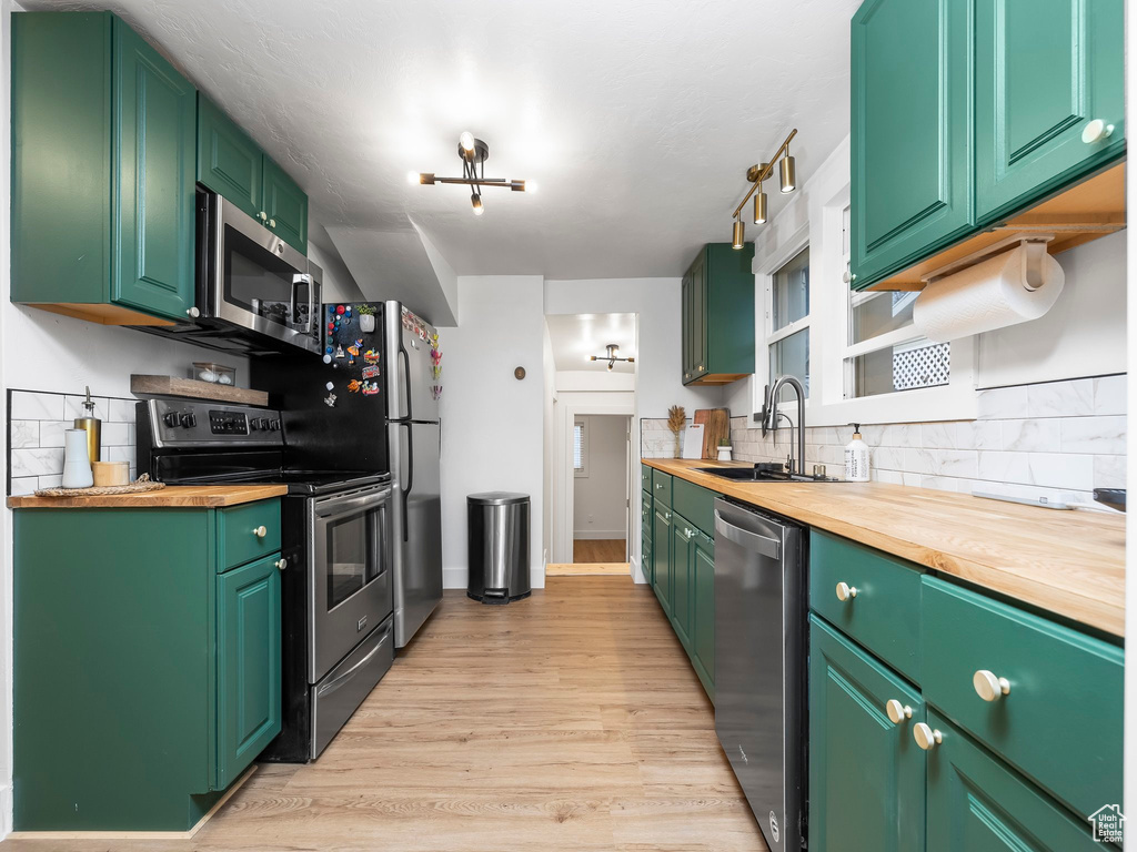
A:
{"type": "MultiPolygon", "coordinates": [[[[850,259],[849,208],[841,211],[841,260],[850,259]]],[[[843,282],[843,285],[845,283],[843,282]]],[[[912,324],[916,293],[847,292],[844,398],[939,387],[952,381],[952,344],[932,343],[912,324]]]]}

